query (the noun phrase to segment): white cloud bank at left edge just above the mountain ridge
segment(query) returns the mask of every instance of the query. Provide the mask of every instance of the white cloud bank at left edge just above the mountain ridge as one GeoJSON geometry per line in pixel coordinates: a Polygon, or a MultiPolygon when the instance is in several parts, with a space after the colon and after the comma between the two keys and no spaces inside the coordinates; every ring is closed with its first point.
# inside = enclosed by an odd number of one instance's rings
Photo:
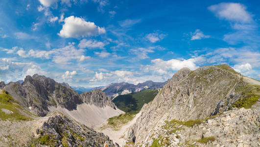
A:
{"type": "Polygon", "coordinates": [[[47,74],[33,62],[15,62],[8,58],[0,59],[0,73],[1,78],[3,78],[5,82],[21,80],[24,79],[26,75],[33,75],[35,73],[47,74]]]}

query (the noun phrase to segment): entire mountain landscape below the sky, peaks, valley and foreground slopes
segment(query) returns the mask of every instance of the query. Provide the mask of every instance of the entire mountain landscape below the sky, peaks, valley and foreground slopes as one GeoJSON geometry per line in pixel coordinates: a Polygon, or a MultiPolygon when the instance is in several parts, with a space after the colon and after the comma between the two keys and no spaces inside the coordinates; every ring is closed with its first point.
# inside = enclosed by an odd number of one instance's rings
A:
{"type": "Polygon", "coordinates": [[[80,95],[27,75],[0,83],[0,146],[259,147],[259,96],[260,81],[226,64],[80,95]]]}

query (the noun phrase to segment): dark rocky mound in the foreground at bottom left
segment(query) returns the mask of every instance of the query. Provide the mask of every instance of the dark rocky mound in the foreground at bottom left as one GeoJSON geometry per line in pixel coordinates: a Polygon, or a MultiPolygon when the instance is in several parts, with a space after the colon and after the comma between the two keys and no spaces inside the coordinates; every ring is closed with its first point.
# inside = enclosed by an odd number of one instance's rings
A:
{"type": "MultiPolygon", "coordinates": [[[[37,140],[41,145],[54,147],[119,147],[108,136],[81,125],[70,118],[54,113],[40,129],[37,140]]],[[[36,146],[37,143],[36,142],[36,146]]]]}

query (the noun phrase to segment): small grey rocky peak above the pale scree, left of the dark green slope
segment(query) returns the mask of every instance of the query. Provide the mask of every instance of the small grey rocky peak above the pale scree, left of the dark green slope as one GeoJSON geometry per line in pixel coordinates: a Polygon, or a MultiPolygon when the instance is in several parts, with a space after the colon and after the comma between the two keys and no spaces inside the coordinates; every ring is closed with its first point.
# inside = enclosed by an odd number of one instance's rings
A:
{"type": "Polygon", "coordinates": [[[84,103],[93,104],[98,107],[110,106],[116,109],[116,105],[108,98],[101,89],[94,89],[90,92],[80,94],[80,98],[84,103]]]}

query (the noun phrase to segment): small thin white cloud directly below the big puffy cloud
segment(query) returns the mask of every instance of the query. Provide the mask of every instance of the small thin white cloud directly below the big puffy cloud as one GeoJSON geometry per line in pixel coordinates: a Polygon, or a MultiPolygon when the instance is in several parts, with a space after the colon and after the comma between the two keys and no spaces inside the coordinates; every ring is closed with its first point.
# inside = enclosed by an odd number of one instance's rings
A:
{"type": "Polygon", "coordinates": [[[79,48],[88,48],[88,49],[104,49],[105,44],[100,41],[96,40],[87,40],[87,39],[82,39],[80,43],[78,44],[79,48]]]}

